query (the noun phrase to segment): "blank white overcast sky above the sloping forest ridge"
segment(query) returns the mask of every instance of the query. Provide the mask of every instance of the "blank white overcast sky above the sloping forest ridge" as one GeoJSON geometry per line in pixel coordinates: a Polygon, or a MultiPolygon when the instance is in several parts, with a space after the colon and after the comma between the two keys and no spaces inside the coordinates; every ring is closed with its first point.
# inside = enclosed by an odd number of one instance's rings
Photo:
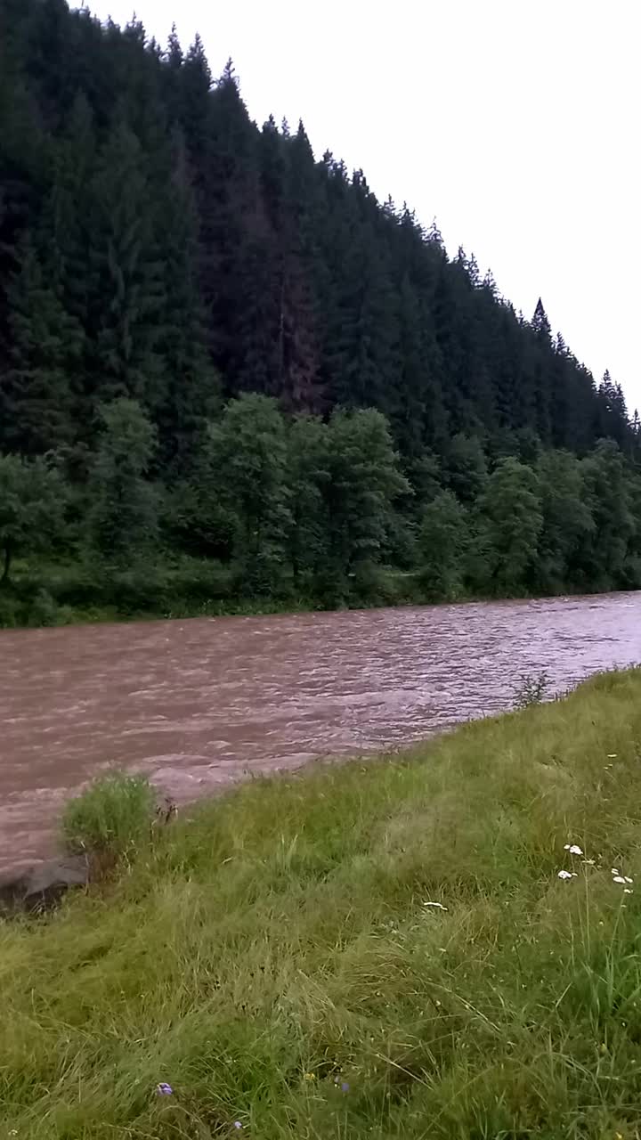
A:
{"type": "Polygon", "coordinates": [[[641,409],[640,0],[91,0],[232,56],[250,114],[436,217],[641,409]]]}

